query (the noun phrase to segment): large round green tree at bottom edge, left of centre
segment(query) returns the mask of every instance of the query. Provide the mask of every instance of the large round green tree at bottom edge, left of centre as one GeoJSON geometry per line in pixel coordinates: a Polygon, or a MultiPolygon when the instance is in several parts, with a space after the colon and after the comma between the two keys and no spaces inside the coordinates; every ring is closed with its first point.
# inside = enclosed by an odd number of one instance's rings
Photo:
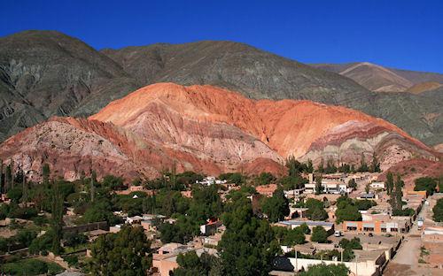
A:
{"type": "Polygon", "coordinates": [[[142,227],[124,226],[117,234],[98,237],[91,247],[93,275],[146,275],[151,267],[151,242],[142,227]]]}

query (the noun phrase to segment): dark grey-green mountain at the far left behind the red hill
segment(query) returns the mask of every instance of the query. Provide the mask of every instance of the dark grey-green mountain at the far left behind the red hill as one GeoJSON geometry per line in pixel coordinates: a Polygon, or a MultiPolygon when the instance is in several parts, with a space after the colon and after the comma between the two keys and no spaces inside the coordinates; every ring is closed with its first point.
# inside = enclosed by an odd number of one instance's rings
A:
{"type": "Polygon", "coordinates": [[[103,107],[135,88],[120,65],[70,36],[27,31],[0,38],[0,141],[90,99],[103,107]]]}

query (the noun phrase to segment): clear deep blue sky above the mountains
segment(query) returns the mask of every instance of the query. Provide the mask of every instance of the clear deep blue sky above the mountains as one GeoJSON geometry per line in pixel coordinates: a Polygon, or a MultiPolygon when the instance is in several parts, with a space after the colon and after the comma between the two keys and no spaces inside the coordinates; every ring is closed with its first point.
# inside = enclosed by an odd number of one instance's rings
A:
{"type": "Polygon", "coordinates": [[[305,63],[443,73],[443,1],[0,0],[0,36],[58,30],[96,49],[229,40],[305,63]]]}

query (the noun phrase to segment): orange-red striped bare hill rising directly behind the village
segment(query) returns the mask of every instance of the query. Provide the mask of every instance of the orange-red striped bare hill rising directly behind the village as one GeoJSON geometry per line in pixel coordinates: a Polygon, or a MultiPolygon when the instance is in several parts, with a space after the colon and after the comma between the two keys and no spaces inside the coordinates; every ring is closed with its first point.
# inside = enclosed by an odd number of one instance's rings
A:
{"type": "Polygon", "coordinates": [[[90,168],[152,177],[165,169],[209,174],[282,172],[287,157],[382,168],[438,153],[383,119],[311,101],[252,100],[226,88],[158,83],[109,103],[89,119],[52,118],[0,145],[26,171],[44,163],[66,179],[90,168]]]}

